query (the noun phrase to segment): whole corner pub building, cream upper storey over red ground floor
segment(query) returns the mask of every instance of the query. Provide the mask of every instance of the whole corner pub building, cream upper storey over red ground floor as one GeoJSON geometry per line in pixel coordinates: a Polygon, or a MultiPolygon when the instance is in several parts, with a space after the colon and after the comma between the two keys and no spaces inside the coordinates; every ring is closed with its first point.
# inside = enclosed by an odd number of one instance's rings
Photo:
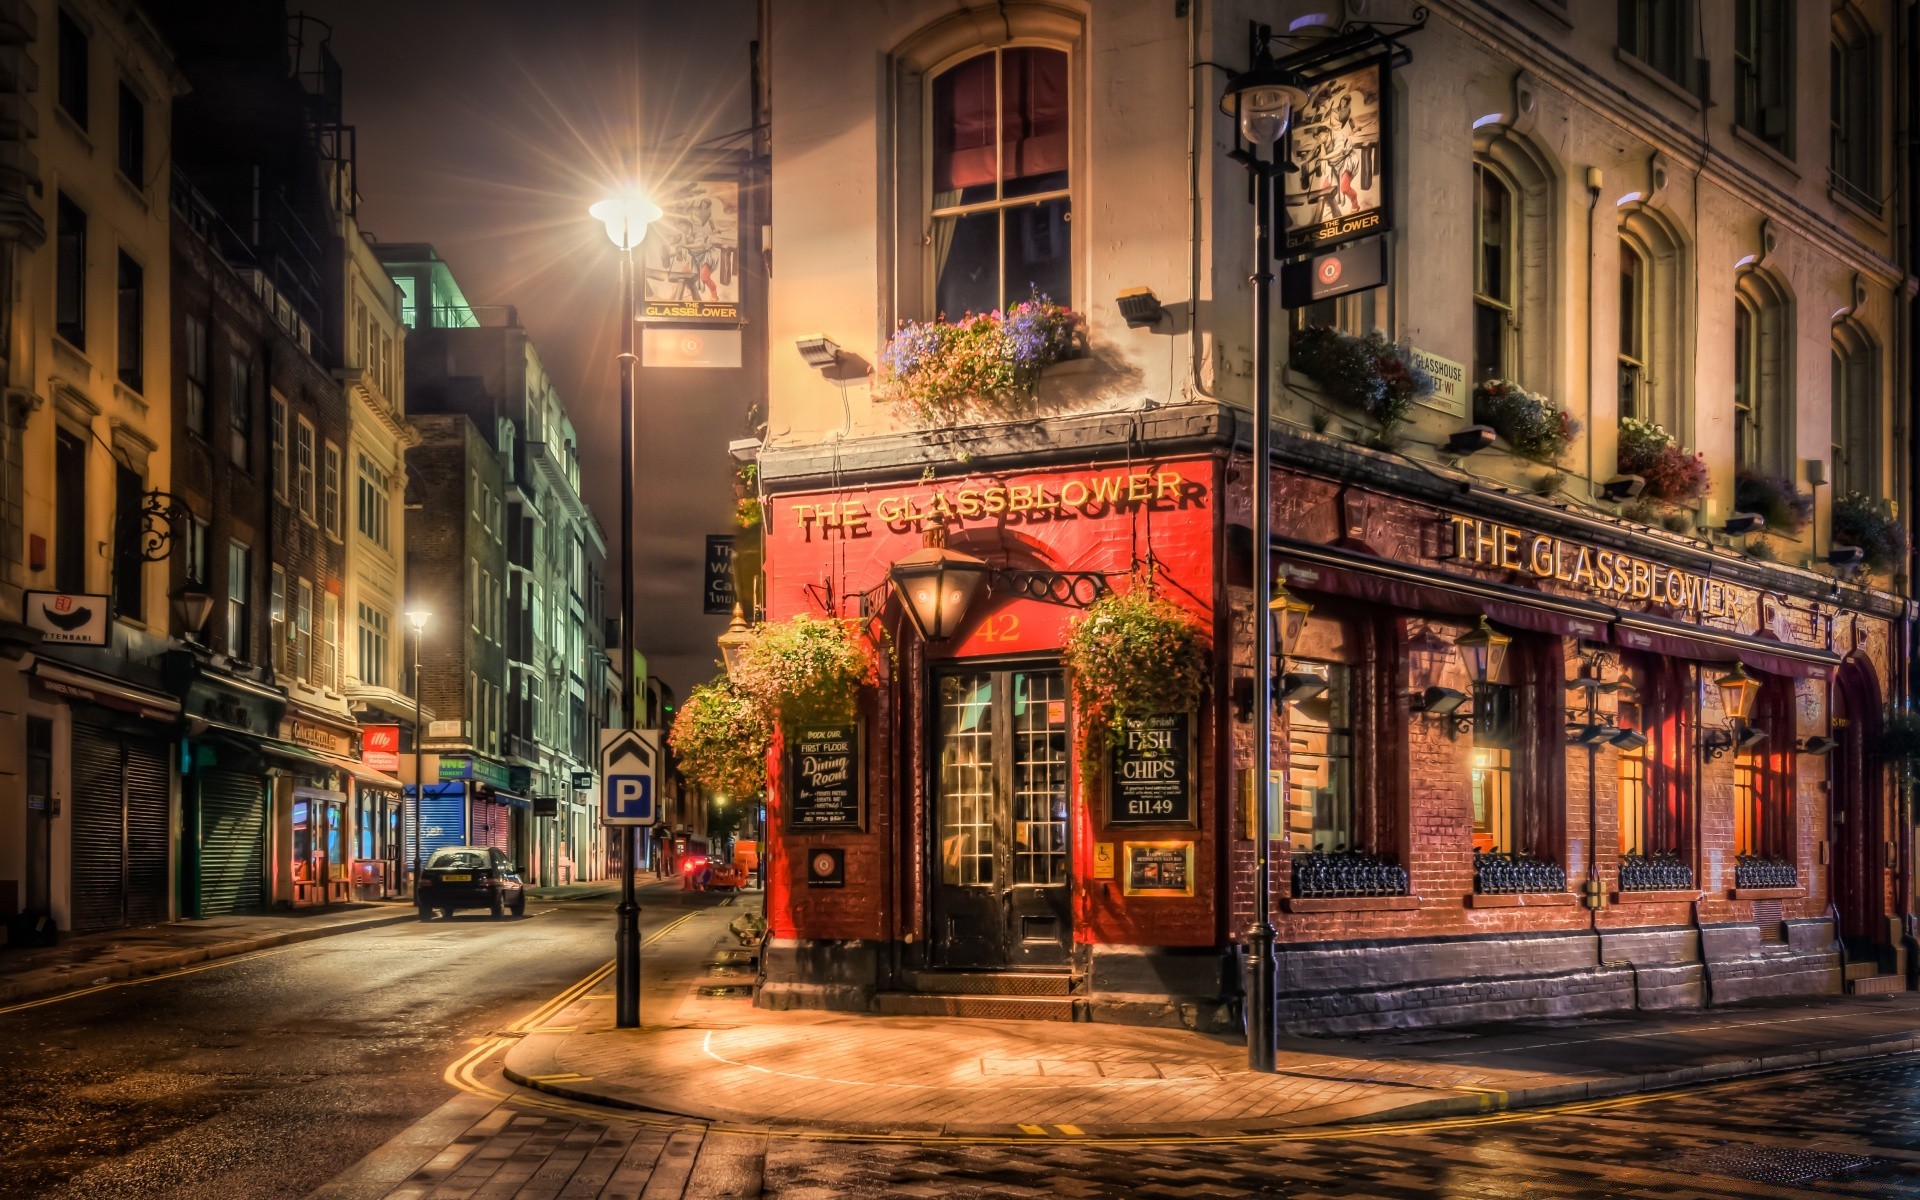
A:
{"type": "MultiPolygon", "coordinates": [[[[1857,353],[1905,346],[1905,301],[1885,227],[1826,190],[1828,90],[1797,92],[1822,134],[1801,179],[1734,106],[1703,119],[1651,81],[1611,10],[1427,8],[1365,44],[1325,4],[762,13],[760,618],[854,622],[879,680],[852,728],[770,756],[758,1004],[1238,1031],[1256,803],[1284,1031],[1907,989],[1910,824],[1876,755],[1907,703],[1905,559],[1862,570],[1837,518],[1907,495],[1905,382],[1857,353]],[[1363,221],[1298,225],[1286,196],[1277,240],[1311,278],[1367,265],[1315,238],[1379,240],[1338,248],[1371,255],[1361,286],[1290,286],[1267,330],[1271,595],[1246,142],[1221,77],[1188,71],[1246,63],[1248,17],[1319,81],[1296,161],[1371,129],[1352,184],[1398,180],[1300,198],[1363,221]],[[883,69],[824,69],[862,56],[883,69]],[[1354,71],[1377,73],[1321,86],[1354,71]],[[1081,323],[1031,394],[904,403],[902,323],[1033,292],[1081,323]],[[1348,336],[1344,365],[1308,361],[1313,330],[1348,336]],[[1380,363],[1434,380],[1384,422],[1359,386],[1380,363]],[[1501,419],[1515,396],[1555,444],[1501,419]],[[1636,503],[1626,428],[1699,486],[1636,503]],[[1759,476],[1799,520],[1757,530],[1759,476]],[[1089,774],[1062,645],[1148,574],[1206,634],[1206,693],[1089,774]]],[[[1824,79],[1857,31],[1793,12],[1824,79]]],[[[1699,44],[1730,77],[1728,31],[1699,44]]]]}

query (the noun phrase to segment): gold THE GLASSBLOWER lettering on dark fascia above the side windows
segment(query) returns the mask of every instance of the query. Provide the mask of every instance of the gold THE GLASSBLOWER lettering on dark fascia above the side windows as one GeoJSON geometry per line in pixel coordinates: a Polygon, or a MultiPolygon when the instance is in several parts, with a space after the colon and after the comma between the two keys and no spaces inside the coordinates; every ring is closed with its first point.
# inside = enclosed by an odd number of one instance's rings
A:
{"type": "Polygon", "coordinates": [[[1692,570],[1475,516],[1448,515],[1448,522],[1453,526],[1448,549],[1457,563],[1530,574],[1693,616],[1728,616],[1734,611],[1726,584],[1692,570]]]}

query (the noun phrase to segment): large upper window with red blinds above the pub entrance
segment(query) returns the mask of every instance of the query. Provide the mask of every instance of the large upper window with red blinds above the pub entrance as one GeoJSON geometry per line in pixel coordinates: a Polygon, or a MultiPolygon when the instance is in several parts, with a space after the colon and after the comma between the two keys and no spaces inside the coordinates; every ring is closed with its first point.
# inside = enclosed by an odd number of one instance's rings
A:
{"type": "Polygon", "coordinates": [[[933,307],[1073,303],[1068,56],[989,50],[931,83],[933,307]]]}

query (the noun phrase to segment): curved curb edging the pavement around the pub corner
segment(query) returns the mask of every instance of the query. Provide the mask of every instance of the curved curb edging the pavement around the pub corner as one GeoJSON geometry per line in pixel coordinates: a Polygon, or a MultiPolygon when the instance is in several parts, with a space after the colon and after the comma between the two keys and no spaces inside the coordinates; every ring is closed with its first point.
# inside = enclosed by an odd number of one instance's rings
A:
{"type": "MultiPolygon", "coordinates": [[[[1269,1121],[1188,1121],[1188,1123],[1106,1123],[1089,1125],[1079,1123],[1079,1137],[1056,1139],[1048,1133],[1033,1133],[1035,1125],[1021,1127],[1014,1123],[1006,1125],[914,1125],[914,1127],[887,1127],[887,1125],[868,1125],[852,1121],[793,1121],[778,1117],[762,1117],[753,1114],[739,1114],[730,1110],[705,1110],[699,1112],[697,1104],[664,1106],[647,1104],[634,1096],[622,1094],[614,1089],[595,1089],[586,1087],[578,1079],[555,1081],[547,1079],[549,1071],[522,1071],[515,1066],[515,1058],[522,1060],[530,1054],[545,1052],[553,1054],[566,1035],[541,1035],[532,1033],[520,1039],[501,1062],[501,1073],[530,1091],[547,1092],[553,1096],[563,1096],[568,1100],[578,1100],[584,1104],[597,1104],[603,1108],[618,1108],[626,1112],[651,1114],[662,1119],[680,1121],[701,1121],[710,1125],[726,1127],[747,1127],[753,1131],[778,1135],[816,1135],[824,1139],[849,1139],[856,1140],[860,1137],[887,1137],[899,1140],[948,1140],[948,1139],[1012,1139],[1021,1142],[1035,1140],[1073,1140],[1073,1142],[1098,1142],[1098,1140],[1139,1140],[1139,1139],[1165,1139],[1165,1140],[1208,1140],[1208,1139],[1250,1139],[1250,1137],[1279,1137],[1286,1133],[1298,1133],[1302,1129],[1315,1127],[1365,1127],[1365,1125],[1396,1125],[1409,1121],[1434,1121],[1450,1117],[1475,1117],[1490,1116],[1500,1112],[1519,1112],[1528,1108],[1548,1108],[1559,1104],[1578,1104],[1584,1100],[1607,1100],[1619,1096],[1634,1096],[1644,1092],[1661,1092],[1686,1087],[1699,1087],[1711,1083],[1728,1083],[1736,1079],[1749,1079],[1761,1075],[1778,1075],[1784,1071],[1795,1071],[1818,1066],[1837,1066],[1845,1062],[1860,1062],[1872,1058],[1893,1058],[1901,1054],[1920,1052],[1920,1035],[1893,1033],[1885,1037],[1868,1037],[1859,1043],[1834,1044],[1816,1050],[1789,1050],[1782,1054],[1761,1054],[1757,1058],[1736,1058],[1724,1062],[1707,1062],[1686,1068],[1676,1068],[1670,1071],[1649,1071],[1645,1075],[1622,1075],[1617,1079],[1588,1079],[1576,1083],[1557,1083],[1542,1087],[1526,1087],[1515,1091],[1488,1091],[1478,1094],[1446,1094],[1444,1089],[1423,1089],[1430,1096],[1423,1100],[1411,1100],[1405,1104],[1386,1104],[1380,1106],[1377,1100],[1350,1100],[1344,1104],[1329,1104],[1323,1108],[1304,1110],[1292,1116],[1292,1119],[1269,1119],[1269,1121]],[[551,1041],[551,1044],[545,1044],[551,1041]]],[[[553,1060],[559,1064],[559,1060],[553,1060]]],[[[564,1064],[559,1064],[564,1066],[564,1064]]],[[[561,1073],[561,1071],[551,1071],[561,1073]]]]}

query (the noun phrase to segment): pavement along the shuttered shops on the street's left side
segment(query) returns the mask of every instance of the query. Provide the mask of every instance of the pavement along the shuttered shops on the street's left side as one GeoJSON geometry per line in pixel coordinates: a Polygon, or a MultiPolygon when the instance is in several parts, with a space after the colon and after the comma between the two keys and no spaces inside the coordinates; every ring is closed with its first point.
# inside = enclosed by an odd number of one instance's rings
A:
{"type": "MultiPolygon", "coordinates": [[[[614,889],[611,881],[570,883],[530,889],[528,899],[589,900],[614,889]]],[[[83,933],[52,947],[0,947],[0,1008],[411,920],[411,900],[372,900],[83,933]]]]}

